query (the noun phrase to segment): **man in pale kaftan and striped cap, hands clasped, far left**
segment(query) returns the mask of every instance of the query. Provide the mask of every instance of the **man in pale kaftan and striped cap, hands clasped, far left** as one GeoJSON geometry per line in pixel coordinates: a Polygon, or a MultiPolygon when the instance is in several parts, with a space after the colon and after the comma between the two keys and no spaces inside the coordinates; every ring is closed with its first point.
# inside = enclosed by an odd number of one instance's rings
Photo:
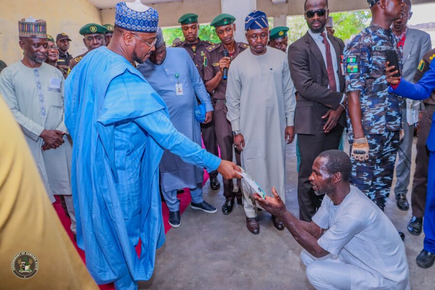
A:
{"type": "MultiPolygon", "coordinates": [[[[26,20],[19,21],[20,28],[32,29],[45,23],[26,20]],[[25,22],[27,25],[21,25],[25,22]]],[[[35,30],[38,33],[41,29],[35,30]]],[[[72,143],[64,124],[64,77],[57,68],[43,63],[48,51],[47,34],[22,34],[20,30],[23,60],[1,72],[0,93],[24,133],[50,201],[55,201],[53,195],[64,195],[75,234],[70,181],[72,143]]]]}

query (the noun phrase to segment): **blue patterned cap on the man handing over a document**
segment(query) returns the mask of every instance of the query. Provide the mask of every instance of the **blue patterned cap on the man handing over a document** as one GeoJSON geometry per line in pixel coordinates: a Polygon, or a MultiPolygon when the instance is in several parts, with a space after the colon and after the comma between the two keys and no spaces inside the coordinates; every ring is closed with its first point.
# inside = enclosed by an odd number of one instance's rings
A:
{"type": "Polygon", "coordinates": [[[144,12],[138,12],[127,7],[125,2],[119,2],[115,8],[115,25],[129,31],[157,32],[159,13],[154,8],[147,8],[144,12]]]}

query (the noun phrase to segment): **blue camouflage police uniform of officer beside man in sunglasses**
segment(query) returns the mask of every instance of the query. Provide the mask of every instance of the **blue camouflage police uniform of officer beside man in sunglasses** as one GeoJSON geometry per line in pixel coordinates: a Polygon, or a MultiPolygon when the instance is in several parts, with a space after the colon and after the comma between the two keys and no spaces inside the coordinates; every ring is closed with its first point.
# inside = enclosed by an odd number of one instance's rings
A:
{"type": "MultiPolygon", "coordinates": [[[[395,50],[402,59],[393,32],[373,24],[344,49],[346,92],[360,92],[361,123],[370,147],[369,160],[351,158],[351,183],[382,209],[390,193],[402,125],[402,98],[388,93],[386,49],[395,50]]],[[[347,114],[352,151],[354,131],[347,114]]]]}

